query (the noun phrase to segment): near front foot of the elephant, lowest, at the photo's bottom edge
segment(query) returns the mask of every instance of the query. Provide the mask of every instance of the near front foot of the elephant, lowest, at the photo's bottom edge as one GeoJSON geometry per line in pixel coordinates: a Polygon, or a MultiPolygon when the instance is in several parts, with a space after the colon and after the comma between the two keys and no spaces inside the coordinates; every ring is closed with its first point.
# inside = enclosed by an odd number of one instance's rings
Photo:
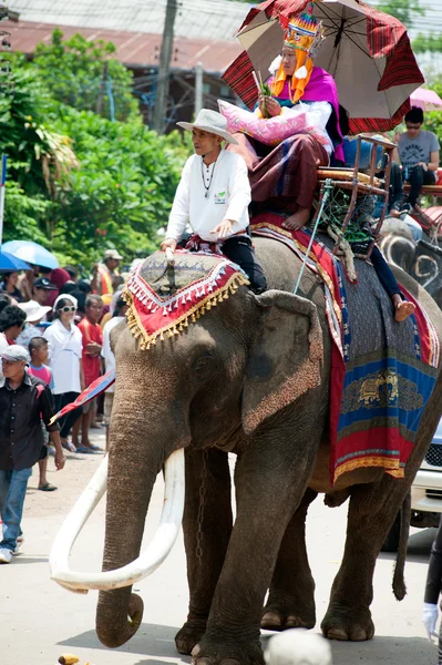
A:
{"type": "Polygon", "coordinates": [[[192,651],[192,665],[265,665],[259,640],[233,641],[232,636],[216,641],[207,634],[192,651]]]}

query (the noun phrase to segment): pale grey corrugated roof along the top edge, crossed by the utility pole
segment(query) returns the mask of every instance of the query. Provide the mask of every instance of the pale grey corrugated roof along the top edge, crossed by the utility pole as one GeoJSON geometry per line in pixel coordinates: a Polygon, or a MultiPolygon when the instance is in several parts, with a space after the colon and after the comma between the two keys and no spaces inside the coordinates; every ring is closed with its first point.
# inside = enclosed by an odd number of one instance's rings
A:
{"type": "MultiPolygon", "coordinates": [[[[124,30],[162,34],[166,0],[9,0],[20,20],[54,25],[124,30]]],[[[228,40],[240,27],[250,4],[226,0],[178,0],[175,35],[228,40]]]]}

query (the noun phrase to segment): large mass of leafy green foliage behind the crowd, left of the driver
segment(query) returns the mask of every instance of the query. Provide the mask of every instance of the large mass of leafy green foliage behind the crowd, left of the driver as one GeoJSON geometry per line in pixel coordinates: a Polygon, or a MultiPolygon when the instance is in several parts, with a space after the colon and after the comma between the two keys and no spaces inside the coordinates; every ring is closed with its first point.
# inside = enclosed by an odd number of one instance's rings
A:
{"type": "Polygon", "coordinates": [[[131,74],[116,61],[106,62],[125,86],[115,103],[122,120],[105,117],[104,100],[102,115],[94,112],[96,89],[88,96],[84,86],[113,47],[84,42],[55,31],[34,61],[12,57],[0,153],[8,155],[4,241],[34,239],[62,262],[89,266],[107,247],[127,260],[157,247],[189,150],[177,132],[158,136],[143,124],[131,74]]]}

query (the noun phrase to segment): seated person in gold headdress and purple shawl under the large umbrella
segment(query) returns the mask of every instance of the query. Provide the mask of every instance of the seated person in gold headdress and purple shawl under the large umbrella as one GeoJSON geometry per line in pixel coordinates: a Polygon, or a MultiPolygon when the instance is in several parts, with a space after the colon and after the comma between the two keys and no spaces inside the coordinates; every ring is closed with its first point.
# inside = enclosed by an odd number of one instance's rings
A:
{"type": "Polygon", "coordinates": [[[289,19],[281,57],[274,63],[278,69],[268,82],[273,95],[259,98],[259,110],[275,117],[302,105],[310,117],[316,116],[323,141],[311,133],[297,133],[274,147],[235,133],[239,145],[228,149],[246,160],[253,212],[264,207],[287,212],[285,226],[290,229],[301,228],[309,219],[318,166],[329,162],[343,165],[336,83],[312,62],[321,40],[322,27],[312,14],[312,4],[289,19]]]}

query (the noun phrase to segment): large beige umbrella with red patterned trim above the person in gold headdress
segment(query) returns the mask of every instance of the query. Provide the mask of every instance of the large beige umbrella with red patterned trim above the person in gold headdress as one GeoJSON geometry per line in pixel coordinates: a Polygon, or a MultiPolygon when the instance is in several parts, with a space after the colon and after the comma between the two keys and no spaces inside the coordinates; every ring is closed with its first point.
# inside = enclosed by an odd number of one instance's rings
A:
{"type": "MultiPolygon", "coordinates": [[[[237,33],[246,51],[223,76],[248,106],[257,99],[253,69],[268,75],[270,62],[281,51],[288,18],[307,4],[307,0],[267,0],[248,13],[237,33]]],[[[410,109],[410,94],[424,81],[404,25],[358,0],[318,1],[313,13],[326,35],[315,65],[335,78],[351,132],[395,126],[410,109]]]]}

